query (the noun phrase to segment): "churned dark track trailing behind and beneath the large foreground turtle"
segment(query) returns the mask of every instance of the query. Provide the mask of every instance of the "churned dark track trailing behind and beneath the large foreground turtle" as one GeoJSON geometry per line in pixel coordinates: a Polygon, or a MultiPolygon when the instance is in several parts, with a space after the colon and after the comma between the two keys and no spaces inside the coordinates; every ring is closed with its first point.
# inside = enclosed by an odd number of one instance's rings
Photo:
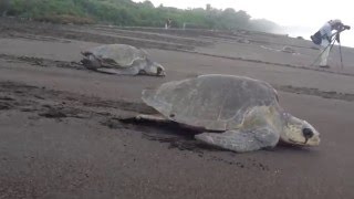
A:
{"type": "Polygon", "coordinates": [[[208,161],[221,161],[241,169],[271,170],[267,165],[253,158],[248,158],[247,161],[241,163],[237,158],[227,160],[217,155],[209,155],[208,151],[223,151],[226,155],[237,156],[235,153],[198,143],[192,136],[199,132],[186,129],[177,124],[168,123],[156,126],[154,123],[139,123],[137,125],[131,119],[125,119],[132,118],[137,113],[157,113],[143,103],[107,101],[22,83],[0,82],[0,114],[10,112],[27,114],[31,121],[50,118],[61,123],[70,118],[90,119],[92,123],[106,128],[138,133],[147,140],[167,144],[168,149],[195,153],[208,161]]]}

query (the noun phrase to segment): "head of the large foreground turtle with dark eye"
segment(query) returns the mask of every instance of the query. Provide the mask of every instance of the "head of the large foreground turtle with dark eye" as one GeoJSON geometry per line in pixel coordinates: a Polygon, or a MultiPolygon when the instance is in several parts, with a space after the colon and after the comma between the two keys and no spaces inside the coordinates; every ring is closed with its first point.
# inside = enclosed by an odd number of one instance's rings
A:
{"type": "Polygon", "coordinates": [[[282,142],[300,146],[320,145],[320,133],[306,121],[284,113],[285,125],[280,138],[282,142]]]}

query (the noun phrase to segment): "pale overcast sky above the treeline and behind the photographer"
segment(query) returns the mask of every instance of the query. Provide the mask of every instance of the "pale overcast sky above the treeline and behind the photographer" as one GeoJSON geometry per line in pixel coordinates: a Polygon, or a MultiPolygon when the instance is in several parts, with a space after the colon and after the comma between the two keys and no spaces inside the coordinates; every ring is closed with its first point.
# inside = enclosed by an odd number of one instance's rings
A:
{"type": "MultiPolygon", "coordinates": [[[[134,0],[136,2],[144,0],[134,0]]],[[[150,0],[155,7],[206,8],[207,3],[218,9],[244,10],[253,19],[268,19],[279,25],[292,27],[291,35],[309,39],[326,21],[341,19],[351,25],[351,31],[342,33],[342,44],[354,46],[354,3],[351,0],[150,0]],[[352,3],[351,3],[352,2],[352,3]],[[320,6],[317,6],[320,3],[320,6]]]]}

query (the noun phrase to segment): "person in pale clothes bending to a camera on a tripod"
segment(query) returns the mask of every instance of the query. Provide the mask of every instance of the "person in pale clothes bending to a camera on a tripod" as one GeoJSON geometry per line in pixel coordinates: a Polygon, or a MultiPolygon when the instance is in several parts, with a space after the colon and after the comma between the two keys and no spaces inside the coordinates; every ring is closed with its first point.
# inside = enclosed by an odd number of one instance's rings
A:
{"type": "Polygon", "coordinates": [[[334,41],[333,36],[335,35],[335,40],[340,43],[340,33],[344,30],[350,30],[351,27],[344,25],[341,20],[331,20],[326,22],[314,35],[311,35],[311,40],[313,43],[321,45],[320,49],[320,63],[321,67],[330,67],[327,65],[327,57],[331,51],[332,41],[334,41]],[[332,34],[332,31],[336,31],[332,34]]]}

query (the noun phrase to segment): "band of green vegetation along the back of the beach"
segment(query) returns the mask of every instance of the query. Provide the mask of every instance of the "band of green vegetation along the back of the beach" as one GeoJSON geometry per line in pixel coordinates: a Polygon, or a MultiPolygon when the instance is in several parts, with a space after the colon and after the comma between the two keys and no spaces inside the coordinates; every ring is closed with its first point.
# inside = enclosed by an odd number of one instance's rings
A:
{"type": "Polygon", "coordinates": [[[271,31],[277,24],[267,20],[251,20],[244,11],[233,9],[181,10],[150,1],[135,3],[131,0],[1,0],[0,13],[40,21],[64,23],[101,22],[129,27],[164,27],[166,19],[173,28],[249,29],[271,31]]]}

